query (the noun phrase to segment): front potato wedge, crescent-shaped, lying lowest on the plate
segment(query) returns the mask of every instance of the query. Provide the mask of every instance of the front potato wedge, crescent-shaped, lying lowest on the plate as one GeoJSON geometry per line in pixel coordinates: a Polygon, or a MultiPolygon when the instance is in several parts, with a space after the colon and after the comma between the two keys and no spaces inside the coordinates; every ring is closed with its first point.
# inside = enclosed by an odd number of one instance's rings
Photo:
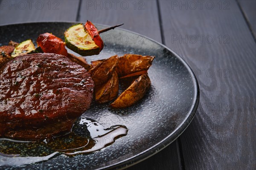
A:
{"type": "Polygon", "coordinates": [[[145,93],[150,89],[150,85],[151,81],[148,74],[141,75],[110,106],[112,108],[126,108],[134,105],[143,98],[145,93]]]}

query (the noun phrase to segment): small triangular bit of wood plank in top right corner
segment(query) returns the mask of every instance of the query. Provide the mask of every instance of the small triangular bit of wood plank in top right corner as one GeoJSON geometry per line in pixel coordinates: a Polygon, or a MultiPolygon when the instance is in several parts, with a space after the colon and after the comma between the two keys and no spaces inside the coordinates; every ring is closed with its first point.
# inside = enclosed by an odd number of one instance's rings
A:
{"type": "Polygon", "coordinates": [[[256,37],[256,0],[239,0],[238,2],[256,37]]]}

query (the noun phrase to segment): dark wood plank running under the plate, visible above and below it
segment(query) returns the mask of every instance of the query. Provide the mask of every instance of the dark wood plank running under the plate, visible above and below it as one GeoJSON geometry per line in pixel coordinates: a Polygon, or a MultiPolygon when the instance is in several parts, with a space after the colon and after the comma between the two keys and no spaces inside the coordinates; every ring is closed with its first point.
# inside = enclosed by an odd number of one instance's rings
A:
{"type": "MultiPolygon", "coordinates": [[[[112,7],[109,8],[107,3],[104,5],[104,1],[82,1],[79,21],[90,20],[93,23],[105,25],[124,23],[121,28],[138,32],[161,42],[156,0],[136,1],[136,8],[134,8],[134,1],[118,2],[116,8],[114,3],[111,3],[112,7]],[[123,6],[120,6],[122,2],[124,2],[123,6]],[[129,7],[126,8],[125,4],[128,4],[129,7]]],[[[177,141],[149,159],[128,168],[128,170],[180,169],[180,158],[176,145],[177,141]]]]}

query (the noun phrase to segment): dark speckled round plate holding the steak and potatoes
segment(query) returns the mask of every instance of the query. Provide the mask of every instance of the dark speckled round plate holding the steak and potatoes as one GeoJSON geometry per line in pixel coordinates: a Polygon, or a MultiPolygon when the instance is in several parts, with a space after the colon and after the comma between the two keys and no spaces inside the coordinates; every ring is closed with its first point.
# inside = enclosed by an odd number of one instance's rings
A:
{"type": "MultiPolygon", "coordinates": [[[[29,38],[35,42],[38,35],[44,32],[51,32],[63,39],[64,31],[73,24],[24,23],[0,26],[0,45],[8,44],[9,40],[21,42],[29,38]]],[[[99,29],[105,27],[96,26],[99,29]]],[[[120,110],[112,110],[108,104],[97,105],[83,114],[105,127],[125,125],[129,129],[127,136],[96,153],[57,156],[18,169],[122,169],[162,150],[192,121],[198,107],[199,88],[192,70],[183,59],[164,45],[131,31],[116,28],[101,36],[105,48],[98,56],[86,57],[87,61],[126,53],[156,56],[148,70],[151,89],[143,100],[120,110]]]]}

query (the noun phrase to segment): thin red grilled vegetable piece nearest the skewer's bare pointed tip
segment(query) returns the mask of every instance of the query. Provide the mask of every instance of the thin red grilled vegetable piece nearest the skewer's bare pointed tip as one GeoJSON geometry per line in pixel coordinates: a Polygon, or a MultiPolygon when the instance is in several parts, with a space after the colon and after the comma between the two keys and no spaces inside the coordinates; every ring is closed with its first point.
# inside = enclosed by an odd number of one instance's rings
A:
{"type": "Polygon", "coordinates": [[[95,42],[95,44],[99,46],[99,50],[102,51],[104,44],[101,37],[99,36],[99,32],[96,26],[94,26],[93,23],[87,20],[87,22],[84,24],[84,27],[85,27],[85,30],[93,38],[93,41],[95,42]]]}

